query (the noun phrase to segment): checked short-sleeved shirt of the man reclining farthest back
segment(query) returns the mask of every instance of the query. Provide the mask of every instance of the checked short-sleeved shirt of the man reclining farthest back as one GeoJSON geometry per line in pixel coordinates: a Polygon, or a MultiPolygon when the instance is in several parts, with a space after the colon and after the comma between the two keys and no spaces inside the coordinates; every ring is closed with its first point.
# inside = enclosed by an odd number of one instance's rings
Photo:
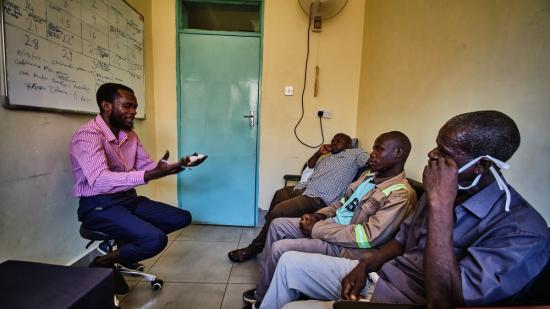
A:
{"type": "Polygon", "coordinates": [[[303,195],[319,197],[326,205],[331,205],[342,196],[368,158],[368,154],[360,148],[345,149],[330,155],[319,160],[313,175],[305,184],[296,185],[296,189],[305,188],[303,195]]]}

